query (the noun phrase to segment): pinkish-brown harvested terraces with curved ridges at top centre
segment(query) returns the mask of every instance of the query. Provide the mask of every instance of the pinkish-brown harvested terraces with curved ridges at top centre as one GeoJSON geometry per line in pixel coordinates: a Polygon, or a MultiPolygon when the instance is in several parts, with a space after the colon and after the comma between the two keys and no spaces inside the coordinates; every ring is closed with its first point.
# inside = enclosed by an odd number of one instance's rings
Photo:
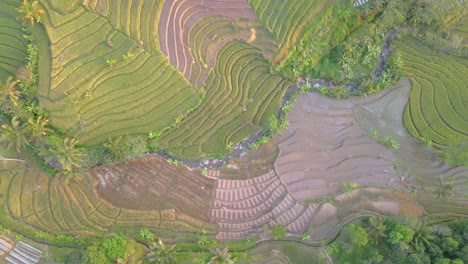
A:
{"type": "Polygon", "coordinates": [[[275,51],[276,41],[273,36],[268,37],[256,18],[246,0],[165,1],[158,26],[161,51],[193,85],[201,87],[216,54],[233,39],[255,45],[251,32],[259,30],[267,38],[258,43],[271,43],[275,51]]]}

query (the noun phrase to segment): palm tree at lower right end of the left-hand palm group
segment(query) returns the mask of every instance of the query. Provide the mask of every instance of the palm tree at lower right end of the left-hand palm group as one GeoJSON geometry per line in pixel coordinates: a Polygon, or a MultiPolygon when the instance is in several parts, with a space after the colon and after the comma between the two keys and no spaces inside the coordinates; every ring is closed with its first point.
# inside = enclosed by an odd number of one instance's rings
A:
{"type": "Polygon", "coordinates": [[[78,141],[74,138],[65,138],[63,141],[57,140],[44,152],[48,162],[56,161],[62,173],[67,175],[80,167],[83,161],[83,152],[76,148],[78,141]]]}

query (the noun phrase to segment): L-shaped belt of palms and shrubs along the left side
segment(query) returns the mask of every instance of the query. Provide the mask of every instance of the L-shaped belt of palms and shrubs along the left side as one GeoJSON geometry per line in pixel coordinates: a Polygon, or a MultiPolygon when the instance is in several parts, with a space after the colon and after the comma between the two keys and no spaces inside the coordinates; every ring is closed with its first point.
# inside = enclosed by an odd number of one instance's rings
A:
{"type": "Polygon", "coordinates": [[[144,137],[119,137],[100,146],[84,147],[66,130],[50,124],[47,111],[38,106],[36,98],[39,52],[28,30],[29,25],[41,22],[44,10],[38,1],[24,0],[18,14],[24,25],[23,37],[29,41],[28,57],[27,65],[17,70],[15,78],[0,80],[0,144],[8,151],[1,154],[31,151],[45,171],[67,177],[98,164],[144,155],[148,149],[144,137]]]}

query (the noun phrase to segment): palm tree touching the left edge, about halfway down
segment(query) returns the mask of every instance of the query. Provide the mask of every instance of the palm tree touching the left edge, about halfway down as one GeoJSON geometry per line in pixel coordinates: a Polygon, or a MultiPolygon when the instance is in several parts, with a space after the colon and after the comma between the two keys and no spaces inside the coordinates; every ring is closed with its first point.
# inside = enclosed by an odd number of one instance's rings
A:
{"type": "Polygon", "coordinates": [[[0,141],[8,141],[8,149],[20,152],[21,148],[28,144],[23,125],[17,116],[11,119],[11,124],[3,124],[0,127],[0,141]]]}

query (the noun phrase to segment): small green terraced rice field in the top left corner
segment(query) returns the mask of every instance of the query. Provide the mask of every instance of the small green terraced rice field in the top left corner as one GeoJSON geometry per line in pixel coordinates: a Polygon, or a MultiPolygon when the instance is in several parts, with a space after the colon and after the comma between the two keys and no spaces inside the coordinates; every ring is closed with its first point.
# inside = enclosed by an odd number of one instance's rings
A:
{"type": "Polygon", "coordinates": [[[0,2],[0,80],[15,76],[16,69],[26,65],[26,40],[21,23],[16,20],[15,1],[0,2]]]}

